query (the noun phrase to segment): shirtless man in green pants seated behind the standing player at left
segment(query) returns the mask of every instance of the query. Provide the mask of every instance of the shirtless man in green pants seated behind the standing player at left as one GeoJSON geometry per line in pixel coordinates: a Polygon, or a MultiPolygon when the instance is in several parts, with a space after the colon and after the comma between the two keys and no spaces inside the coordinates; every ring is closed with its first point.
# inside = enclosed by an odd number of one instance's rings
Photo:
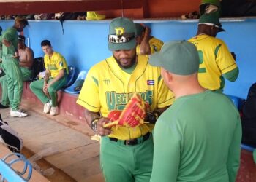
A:
{"type": "MultiPolygon", "coordinates": [[[[28,81],[31,77],[32,71],[31,66],[33,64],[34,52],[31,48],[26,47],[25,36],[18,36],[18,58],[20,64],[20,71],[22,74],[22,80],[28,81]]],[[[3,73],[4,74],[4,73],[3,73]]],[[[0,108],[9,107],[8,88],[7,88],[7,76],[3,75],[0,77],[1,83],[1,103],[0,108]]]]}

